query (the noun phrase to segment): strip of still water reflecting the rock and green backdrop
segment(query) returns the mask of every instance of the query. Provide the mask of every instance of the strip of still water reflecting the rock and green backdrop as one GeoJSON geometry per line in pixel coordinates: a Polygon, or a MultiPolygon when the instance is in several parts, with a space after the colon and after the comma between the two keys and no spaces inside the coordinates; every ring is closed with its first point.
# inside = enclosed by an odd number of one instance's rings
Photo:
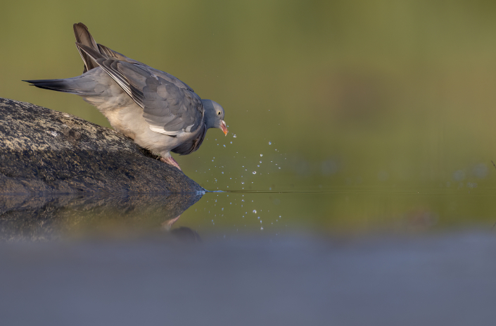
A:
{"type": "Polygon", "coordinates": [[[201,237],[408,236],[491,230],[492,189],[367,189],[207,192],[127,196],[1,196],[1,238],[147,237],[187,227],[201,237]],[[415,191],[417,190],[417,191],[415,191]]]}

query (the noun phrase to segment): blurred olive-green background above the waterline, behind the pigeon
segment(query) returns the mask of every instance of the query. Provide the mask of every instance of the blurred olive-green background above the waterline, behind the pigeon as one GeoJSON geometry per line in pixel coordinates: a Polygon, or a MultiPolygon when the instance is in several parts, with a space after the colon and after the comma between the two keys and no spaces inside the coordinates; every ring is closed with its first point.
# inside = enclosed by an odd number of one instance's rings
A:
{"type": "Polygon", "coordinates": [[[496,173],[495,15],[482,0],[4,1],[0,96],[108,126],[21,82],[80,75],[82,22],[224,106],[227,137],[177,159],[207,189],[481,192],[496,173]]]}

